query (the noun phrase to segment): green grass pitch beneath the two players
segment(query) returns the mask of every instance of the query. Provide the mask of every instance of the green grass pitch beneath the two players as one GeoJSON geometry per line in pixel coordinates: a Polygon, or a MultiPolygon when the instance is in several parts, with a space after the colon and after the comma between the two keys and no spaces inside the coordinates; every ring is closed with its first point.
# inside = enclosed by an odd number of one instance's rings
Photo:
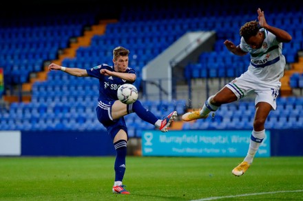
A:
{"type": "Polygon", "coordinates": [[[0,200],[303,200],[303,157],[127,156],[123,184],[112,193],[114,157],[0,157],[0,200]]]}

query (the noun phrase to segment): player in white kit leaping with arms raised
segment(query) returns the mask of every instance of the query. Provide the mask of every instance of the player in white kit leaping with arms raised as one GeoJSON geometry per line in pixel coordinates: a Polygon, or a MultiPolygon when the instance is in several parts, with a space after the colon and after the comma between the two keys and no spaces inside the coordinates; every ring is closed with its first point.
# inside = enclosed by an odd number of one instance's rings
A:
{"type": "Polygon", "coordinates": [[[282,55],[282,43],[289,43],[292,39],[286,31],[267,24],[260,8],[258,22],[250,21],[242,25],[240,36],[240,45],[236,46],[229,40],[225,40],[224,45],[238,56],[248,53],[251,55],[248,70],[226,84],[216,95],[210,96],[201,110],[182,115],[184,121],[205,119],[222,104],[235,102],[249,93],[255,93],[255,117],[249,150],[244,161],[232,170],[235,176],[241,176],[249,169],[264,139],[264,123],[270,111],[276,108],[275,99],[281,86],[280,79],[284,75],[286,61],[282,55]]]}

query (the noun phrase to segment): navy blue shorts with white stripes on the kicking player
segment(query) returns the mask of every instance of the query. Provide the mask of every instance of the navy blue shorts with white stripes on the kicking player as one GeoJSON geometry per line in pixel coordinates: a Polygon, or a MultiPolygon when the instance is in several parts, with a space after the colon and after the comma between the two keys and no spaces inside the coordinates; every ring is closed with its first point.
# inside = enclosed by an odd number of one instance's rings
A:
{"type": "MultiPolygon", "coordinates": [[[[114,137],[119,130],[124,130],[127,134],[127,126],[124,117],[113,120],[112,119],[112,105],[114,102],[100,101],[96,107],[96,113],[98,121],[105,126],[110,137],[114,140],[114,137]]],[[[128,134],[127,134],[128,139],[128,134]]]]}

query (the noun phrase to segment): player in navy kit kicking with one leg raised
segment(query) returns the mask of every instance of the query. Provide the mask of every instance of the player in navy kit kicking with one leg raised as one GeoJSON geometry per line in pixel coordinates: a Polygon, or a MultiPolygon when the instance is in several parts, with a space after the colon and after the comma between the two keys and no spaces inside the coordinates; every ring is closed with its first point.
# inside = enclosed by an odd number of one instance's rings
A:
{"type": "Polygon", "coordinates": [[[124,47],[116,47],[113,50],[114,66],[101,64],[92,69],[79,69],[61,67],[58,64],[50,64],[49,70],[61,70],[77,77],[93,77],[99,80],[99,97],[96,114],[110,137],[113,139],[116,150],[116,161],[114,164],[115,181],[112,188],[113,193],[129,194],[122,185],[125,174],[125,158],[127,154],[127,126],[124,116],[136,113],[138,117],[155,125],[162,132],[167,132],[171,121],[176,119],[176,111],[171,112],[165,119],[158,119],[151,111],[145,109],[140,101],[133,104],[123,104],[118,100],[117,89],[121,84],[132,84],[136,80],[136,71],[128,67],[129,50],[124,47]]]}

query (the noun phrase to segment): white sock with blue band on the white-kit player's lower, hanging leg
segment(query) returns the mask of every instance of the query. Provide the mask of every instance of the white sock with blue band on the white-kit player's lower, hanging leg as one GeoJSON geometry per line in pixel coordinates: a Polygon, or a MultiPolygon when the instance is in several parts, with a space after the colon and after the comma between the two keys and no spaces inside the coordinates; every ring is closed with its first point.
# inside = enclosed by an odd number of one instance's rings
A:
{"type": "Polygon", "coordinates": [[[253,157],[255,157],[255,153],[257,153],[263,139],[265,137],[265,130],[251,132],[251,141],[249,143],[249,151],[247,152],[247,156],[244,158],[244,161],[247,161],[249,165],[253,163],[253,157]]]}

